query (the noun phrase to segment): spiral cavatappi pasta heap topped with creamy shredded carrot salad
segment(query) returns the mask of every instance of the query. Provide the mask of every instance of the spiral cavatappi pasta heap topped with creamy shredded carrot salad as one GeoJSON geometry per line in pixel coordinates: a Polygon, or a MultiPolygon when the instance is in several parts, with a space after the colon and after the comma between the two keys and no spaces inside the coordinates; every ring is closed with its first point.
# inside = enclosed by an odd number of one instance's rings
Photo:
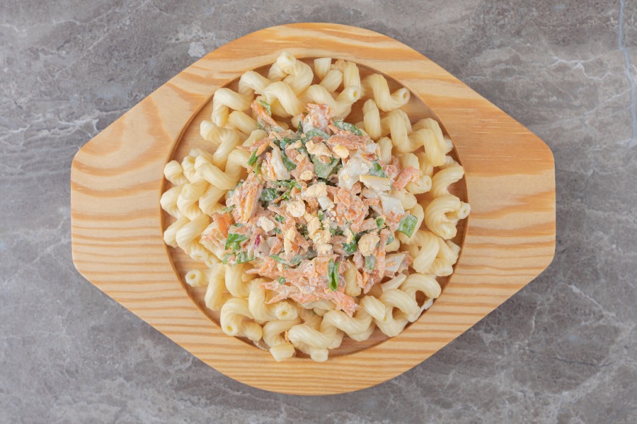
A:
{"type": "Polygon", "coordinates": [[[214,93],[210,149],[166,164],[160,204],[224,333],[324,361],[344,336],[396,336],[440,295],[470,211],[449,192],[464,169],[434,119],[401,110],[409,98],[352,62],[286,52],[214,93]]]}

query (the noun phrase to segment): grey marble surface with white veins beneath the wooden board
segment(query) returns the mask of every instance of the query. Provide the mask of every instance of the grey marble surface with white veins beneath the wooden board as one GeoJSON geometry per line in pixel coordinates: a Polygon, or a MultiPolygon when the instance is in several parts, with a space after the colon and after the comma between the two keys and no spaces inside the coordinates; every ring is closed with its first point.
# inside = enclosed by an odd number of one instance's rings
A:
{"type": "Polygon", "coordinates": [[[636,423],[637,1],[0,0],[0,423],[636,423]],[[404,375],[272,394],[204,365],[71,262],[74,153],[206,52],[331,21],[406,43],[556,160],[549,269],[404,375]]]}

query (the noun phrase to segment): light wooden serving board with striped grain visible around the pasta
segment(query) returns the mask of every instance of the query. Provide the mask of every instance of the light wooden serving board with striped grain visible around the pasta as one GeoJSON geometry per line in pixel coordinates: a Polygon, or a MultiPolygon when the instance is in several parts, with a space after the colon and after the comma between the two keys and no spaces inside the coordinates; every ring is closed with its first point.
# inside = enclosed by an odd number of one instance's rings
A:
{"type": "Polygon", "coordinates": [[[553,156],[531,131],[396,40],[345,25],[282,25],[208,54],[89,141],[71,167],[71,218],[77,269],[197,358],[261,389],[334,394],[418,365],[548,266],[555,247],[553,156]],[[201,291],[180,279],[188,259],[162,239],[163,165],[197,143],[193,127],[209,113],[214,90],[284,50],[299,59],[355,61],[409,88],[412,119],[437,117],[454,141],[466,170],[460,191],[472,209],[455,272],[434,306],[399,336],[344,346],[327,363],[276,363],[223,334],[202,307],[201,291]]]}

